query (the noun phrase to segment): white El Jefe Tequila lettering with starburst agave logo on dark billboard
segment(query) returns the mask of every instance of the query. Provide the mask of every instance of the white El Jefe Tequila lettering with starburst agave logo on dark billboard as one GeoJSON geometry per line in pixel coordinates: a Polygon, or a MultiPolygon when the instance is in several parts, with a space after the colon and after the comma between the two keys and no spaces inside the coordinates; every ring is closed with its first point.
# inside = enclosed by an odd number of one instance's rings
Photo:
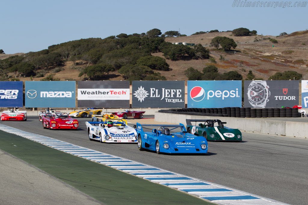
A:
{"type": "Polygon", "coordinates": [[[138,90],[133,93],[133,95],[138,99],[138,101],[142,102],[145,98],[160,98],[161,101],[165,102],[183,102],[182,99],[178,99],[182,97],[182,89],[156,89],[150,88],[150,90],[145,90],[144,87],[140,86],[138,90]]]}

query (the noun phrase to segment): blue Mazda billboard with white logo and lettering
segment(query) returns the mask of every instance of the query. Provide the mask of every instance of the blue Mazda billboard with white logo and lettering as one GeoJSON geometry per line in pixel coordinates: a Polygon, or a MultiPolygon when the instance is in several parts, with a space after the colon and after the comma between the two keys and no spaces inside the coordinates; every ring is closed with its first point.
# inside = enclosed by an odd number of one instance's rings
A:
{"type": "Polygon", "coordinates": [[[75,108],[76,81],[26,81],[25,107],[75,108]]]}

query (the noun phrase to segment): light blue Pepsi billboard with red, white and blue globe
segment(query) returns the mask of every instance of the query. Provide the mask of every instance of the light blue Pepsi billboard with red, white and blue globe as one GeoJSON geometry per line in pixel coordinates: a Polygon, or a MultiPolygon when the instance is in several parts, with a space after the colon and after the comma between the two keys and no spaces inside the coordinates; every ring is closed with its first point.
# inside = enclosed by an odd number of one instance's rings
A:
{"type": "Polygon", "coordinates": [[[242,81],[187,81],[188,108],[242,106],[242,81]]]}

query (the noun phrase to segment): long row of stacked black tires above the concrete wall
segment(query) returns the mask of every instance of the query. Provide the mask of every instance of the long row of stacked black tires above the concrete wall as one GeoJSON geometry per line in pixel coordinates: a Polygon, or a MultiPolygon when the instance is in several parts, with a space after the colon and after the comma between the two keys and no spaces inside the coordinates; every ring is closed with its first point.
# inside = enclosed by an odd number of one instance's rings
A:
{"type": "Polygon", "coordinates": [[[300,117],[298,108],[172,108],[158,112],[213,116],[213,117],[242,117],[242,118],[268,118],[268,117],[300,117]]]}

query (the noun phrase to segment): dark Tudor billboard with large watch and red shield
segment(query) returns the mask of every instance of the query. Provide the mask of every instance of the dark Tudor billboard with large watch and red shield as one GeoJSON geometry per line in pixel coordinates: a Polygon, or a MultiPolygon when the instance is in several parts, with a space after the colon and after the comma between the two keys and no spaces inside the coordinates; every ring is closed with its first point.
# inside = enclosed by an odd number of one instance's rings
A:
{"type": "Polygon", "coordinates": [[[298,98],[299,81],[244,81],[244,107],[292,108],[298,98]]]}

